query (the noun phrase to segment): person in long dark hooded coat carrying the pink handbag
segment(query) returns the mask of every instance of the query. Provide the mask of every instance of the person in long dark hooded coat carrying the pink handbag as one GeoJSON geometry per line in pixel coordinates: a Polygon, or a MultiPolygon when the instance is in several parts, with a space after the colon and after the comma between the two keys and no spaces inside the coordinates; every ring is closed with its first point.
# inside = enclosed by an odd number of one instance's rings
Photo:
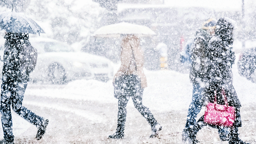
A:
{"type": "MultiPolygon", "coordinates": [[[[221,90],[227,96],[229,106],[235,107],[236,118],[233,126],[230,127],[229,144],[245,144],[238,138],[238,127],[242,126],[240,116],[240,101],[233,87],[232,65],[234,64],[235,55],[232,51],[233,44],[234,21],[229,18],[220,18],[217,21],[215,36],[209,41],[207,48],[206,61],[206,79],[209,82],[205,89],[205,96],[208,101],[214,102],[214,91],[217,91],[217,103],[224,105],[224,99],[221,90]]],[[[204,125],[208,125],[203,121],[203,116],[198,120],[197,126],[194,128],[193,144],[196,143],[196,133],[204,125]]],[[[217,128],[220,126],[216,126],[217,128]]]]}

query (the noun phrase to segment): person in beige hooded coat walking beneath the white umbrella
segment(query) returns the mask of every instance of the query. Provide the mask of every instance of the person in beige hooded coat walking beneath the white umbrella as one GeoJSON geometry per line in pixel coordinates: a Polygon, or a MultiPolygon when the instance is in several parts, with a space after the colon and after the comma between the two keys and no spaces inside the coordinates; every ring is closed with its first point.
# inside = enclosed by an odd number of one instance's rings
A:
{"type": "Polygon", "coordinates": [[[143,72],[144,56],[139,45],[140,40],[135,35],[127,35],[122,40],[121,66],[113,79],[114,96],[118,99],[117,129],[109,138],[124,137],[126,105],[130,97],[132,97],[135,108],[151,125],[152,135],[150,137],[156,137],[162,129],[150,110],[142,105],[142,93],[147,87],[147,80],[143,72]]]}

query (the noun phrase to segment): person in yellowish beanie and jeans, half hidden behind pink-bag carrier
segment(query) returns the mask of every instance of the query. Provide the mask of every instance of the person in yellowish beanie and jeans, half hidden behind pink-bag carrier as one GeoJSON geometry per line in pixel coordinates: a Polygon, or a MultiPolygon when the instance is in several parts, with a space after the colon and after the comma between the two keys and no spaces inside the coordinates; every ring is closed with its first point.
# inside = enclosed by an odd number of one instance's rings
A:
{"type": "Polygon", "coordinates": [[[191,60],[190,81],[193,83],[192,102],[189,105],[187,122],[182,132],[182,141],[184,143],[190,141],[190,135],[193,132],[193,127],[196,125],[196,116],[200,112],[203,103],[203,88],[205,87],[205,61],[206,49],[209,40],[214,35],[216,27],[215,19],[208,19],[203,23],[202,28],[196,32],[194,42],[189,44],[190,52],[188,53],[191,60]]]}

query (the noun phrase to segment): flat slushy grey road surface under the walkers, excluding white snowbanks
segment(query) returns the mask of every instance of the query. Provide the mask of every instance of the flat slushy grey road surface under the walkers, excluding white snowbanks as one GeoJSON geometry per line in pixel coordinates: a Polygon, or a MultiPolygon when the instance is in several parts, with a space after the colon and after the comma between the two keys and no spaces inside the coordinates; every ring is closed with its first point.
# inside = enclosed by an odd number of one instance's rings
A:
{"type": "MultiPolygon", "coordinates": [[[[16,123],[14,135],[16,143],[19,144],[180,144],[186,118],[186,111],[152,110],[163,130],[160,131],[159,137],[149,138],[150,126],[130,103],[127,109],[125,138],[112,140],[107,137],[114,133],[116,128],[117,104],[26,96],[24,106],[48,118],[50,123],[45,136],[37,141],[34,139],[36,128],[13,114],[13,122],[16,123]]],[[[255,143],[256,109],[253,105],[248,105],[244,106],[241,112],[243,127],[239,128],[240,138],[255,143]]],[[[210,128],[201,130],[197,139],[205,144],[227,144],[219,140],[217,130],[210,128]]]]}

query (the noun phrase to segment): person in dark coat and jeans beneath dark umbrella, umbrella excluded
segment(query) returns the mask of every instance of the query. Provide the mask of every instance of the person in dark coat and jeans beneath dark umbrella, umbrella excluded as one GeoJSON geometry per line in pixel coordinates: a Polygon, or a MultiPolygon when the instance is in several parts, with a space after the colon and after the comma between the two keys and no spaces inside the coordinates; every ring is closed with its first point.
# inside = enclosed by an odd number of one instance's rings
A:
{"type": "Polygon", "coordinates": [[[18,115],[38,127],[36,139],[39,140],[49,121],[22,106],[29,73],[36,65],[37,51],[31,46],[28,34],[7,32],[5,39],[0,106],[4,139],[0,144],[13,144],[14,141],[11,107],[18,115]]]}

